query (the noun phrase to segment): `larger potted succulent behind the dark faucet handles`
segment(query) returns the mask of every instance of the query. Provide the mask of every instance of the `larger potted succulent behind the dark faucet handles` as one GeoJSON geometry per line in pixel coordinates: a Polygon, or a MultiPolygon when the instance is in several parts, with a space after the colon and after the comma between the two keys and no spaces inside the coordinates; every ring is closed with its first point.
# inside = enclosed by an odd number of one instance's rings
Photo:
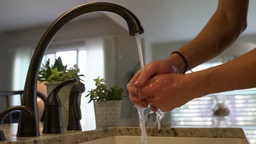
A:
{"type": "MultiPolygon", "coordinates": [[[[49,93],[62,81],[68,80],[68,79],[77,79],[80,81],[83,81],[80,79],[81,76],[79,75],[80,69],[78,68],[77,64],[74,64],[72,68],[67,69],[67,65],[62,64],[61,58],[55,59],[54,65],[50,65],[50,59],[46,62],[46,64],[43,64],[43,67],[39,71],[38,74],[38,81],[39,82],[45,82],[44,85],[47,89],[47,94],[49,93]]],[[[68,124],[68,97],[71,87],[74,84],[69,84],[59,91],[59,98],[62,103],[62,123],[63,127],[67,127],[68,124]]]]}

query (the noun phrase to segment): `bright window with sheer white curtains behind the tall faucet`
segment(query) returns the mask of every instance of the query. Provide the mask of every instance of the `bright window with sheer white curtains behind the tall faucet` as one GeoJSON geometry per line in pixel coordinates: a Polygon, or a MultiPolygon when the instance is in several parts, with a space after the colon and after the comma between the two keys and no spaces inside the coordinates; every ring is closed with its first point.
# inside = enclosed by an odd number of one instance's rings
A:
{"type": "MultiPolygon", "coordinates": [[[[116,38],[115,35],[105,35],[71,41],[50,45],[42,59],[42,64],[49,58],[50,64],[54,64],[57,57],[61,57],[63,64],[67,64],[68,68],[78,64],[80,74],[85,75],[82,79],[86,81],[86,90],[81,97],[82,120],[80,122],[86,129],[95,129],[94,105],[88,104],[89,97],[85,98],[85,95],[90,89],[95,88],[93,79],[98,76],[108,80],[109,85],[114,85],[116,38]]],[[[13,90],[21,90],[25,85],[27,69],[34,49],[18,47],[10,50],[10,61],[13,63],[13,69],[10,70],[13,71],[10,87],[13,90]]],[[[17,98],[13,97],[11,105],[20,105],[20,101],[16,100],[18,98],[20,98],[19,95],[17,98]]]]}

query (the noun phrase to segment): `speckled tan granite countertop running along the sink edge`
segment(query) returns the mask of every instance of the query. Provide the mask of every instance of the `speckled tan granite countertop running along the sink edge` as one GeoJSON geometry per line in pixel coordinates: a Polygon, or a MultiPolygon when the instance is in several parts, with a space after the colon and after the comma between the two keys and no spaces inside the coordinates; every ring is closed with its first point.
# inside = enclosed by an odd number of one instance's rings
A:
{"type": "MultiPolygon", "coordinates": [[[[108,136],[126,135],[139,136],[141,129],[138,127],[109,127],[96,128],[84,131],[65,131],[64,134],[40,134],[38,137],[16,137],[18,124],[0,125],[4,130],[7,141],[0,143],[80,143],[108,136]]],[[[40,124],[42,131],[42,125],[40,124]]],[[[219,137],[241,138],[246,140],[241,128],[147,128],[149,136],[176,136],[176,137],[219,137]]]]}

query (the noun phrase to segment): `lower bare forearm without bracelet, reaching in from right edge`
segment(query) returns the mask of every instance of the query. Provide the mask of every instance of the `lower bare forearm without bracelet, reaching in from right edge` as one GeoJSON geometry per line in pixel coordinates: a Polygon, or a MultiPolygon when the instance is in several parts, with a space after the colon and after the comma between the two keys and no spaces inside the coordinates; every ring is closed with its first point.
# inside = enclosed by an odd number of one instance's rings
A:
{"type": "Polygon", "coordinates": [[[195,95],[256,87],[256,49],[232,61],[188,74],[195,95]]]}

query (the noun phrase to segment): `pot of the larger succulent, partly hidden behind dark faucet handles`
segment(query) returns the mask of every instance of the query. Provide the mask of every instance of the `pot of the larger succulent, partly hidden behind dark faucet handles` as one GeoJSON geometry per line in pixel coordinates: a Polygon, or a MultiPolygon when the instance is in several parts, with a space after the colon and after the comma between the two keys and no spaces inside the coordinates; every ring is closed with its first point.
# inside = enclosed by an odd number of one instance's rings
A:
{"type": "MultiPolygon", "coordinates": [[[[53,89],[60,85],[62,81],[56,81],[56,82],[46,82],[44,83],[44,85],[47,88],[47,95],[50,94],[51,91],[53,91],[53,89]]],[[[64,87],[62,87],[59,91],[59,98],[61,100],[61,114],[62,114],[62,124],[63,124],[63,128],[67,128],[68,125],[68,104],[69,104],[69,92],[72,88],[72,86],[74,86],[75,83],[71,83],[69,85],[66,85],[64,87]]],[[[79,97],[79,99],[81,99],[81,95],[79,97]]]]}

